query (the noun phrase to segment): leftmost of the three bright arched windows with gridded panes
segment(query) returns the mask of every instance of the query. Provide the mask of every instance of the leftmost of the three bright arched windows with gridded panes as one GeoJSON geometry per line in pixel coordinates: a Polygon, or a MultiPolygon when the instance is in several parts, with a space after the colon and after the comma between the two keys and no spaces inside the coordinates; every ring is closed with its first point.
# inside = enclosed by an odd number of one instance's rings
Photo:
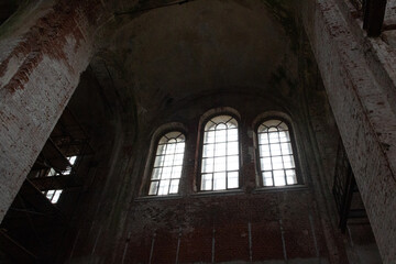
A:
{"type": "Polygon", "coordinates": [[[169,132],[161,138],[150,180],[148,195],[178,193],[185,140],[185,135],[180,132],[169,132]]]}

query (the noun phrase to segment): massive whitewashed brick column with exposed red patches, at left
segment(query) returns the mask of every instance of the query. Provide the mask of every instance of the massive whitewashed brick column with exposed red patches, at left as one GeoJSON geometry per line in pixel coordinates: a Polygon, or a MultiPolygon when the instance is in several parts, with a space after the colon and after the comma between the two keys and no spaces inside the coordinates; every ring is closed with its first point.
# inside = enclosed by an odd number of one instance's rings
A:
{"type": "Polygon", "coordinates": [[[0,28],[0,221],[89,63],[96,2],[38,1],[0,28]]]}

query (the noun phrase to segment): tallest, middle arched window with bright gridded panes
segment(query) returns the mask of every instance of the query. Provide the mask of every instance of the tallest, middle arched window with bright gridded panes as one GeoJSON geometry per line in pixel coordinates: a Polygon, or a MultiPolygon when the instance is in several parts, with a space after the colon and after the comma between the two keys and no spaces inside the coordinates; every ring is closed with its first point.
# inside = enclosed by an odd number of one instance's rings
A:
{"type": "Polygon", "coordinates": [[[209,120],[204,131],[201,190],[239,188],[238,122],[230,116],[209,120]]]}

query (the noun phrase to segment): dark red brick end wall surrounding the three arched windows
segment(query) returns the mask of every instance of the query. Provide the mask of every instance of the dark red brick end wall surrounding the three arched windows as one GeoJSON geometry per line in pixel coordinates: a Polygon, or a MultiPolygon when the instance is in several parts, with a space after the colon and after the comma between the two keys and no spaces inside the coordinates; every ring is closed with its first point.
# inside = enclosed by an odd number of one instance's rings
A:
{"type": "MultiPolygon", "coordinates": [[[[147,124],[152,132],[166,122],[182,122],[187,127],[180,196],[170,199],[144,198],[145,194],[140,193],[141,185],[147,180],[143,175],[152,133],[141,134],[138,152],[143,155],[131,168],[134,195],[131,195],[129,200],[131,204],[123,239],[118,244],[120,253],[116,254],[117,262],[144,263],[152,257],[155,263],[167,263],[175,261],[176,255],[179,254],[180,263],[209,263],[213,254],[215,238],[215,260],[218,262],[249,261],[252,256],[254,261],[322,257],[330,263],[348,263],[342,250],[342,240],[340,243],[340,238],[337,238],[339,234],[333,230],[331,223],[333,219],[328,215],[326,198],[321,194],[329,191],[328,186],[322,190],[316,189],[320,186],[318,182],[326,179],[320,178],[324,173],[319,169],[323,167],[319,168],[314,162],[315,156],[319,156],[320,160],[321,154],[312,147],[309,118],[306,119],[304,110],[299,109],[298,105],[292,107],[293,103],[287,103],[289,101],[285,102],[280,97],[276,99],[273,97],[276,98],[274,95],[254,98],[241,91],[207,95],[185,102],[183,107],[178,106],[177,110],[162,113],[157,123],[147,124]],[[245,101],[250,102],[249,107],[244,106],[245,101]],[[234,193],[197,194],[196,177],[199,160],[197,153],[200,147],[197,142],[198,123],[206,110],[219,106],[234,108],[241,116],[242,186],[240,191],[234,193]],[[275,191],[257,190],[252,122],[265,111],[292,112],[299,154],[301,154],[299,158],[305,187],[275,191]],[[253,239],[251,248],[249,226],[253,239]],[[155,246],[151,253],[153,238],[155,238],[155,246]],[[283,239],[286,245],[282,243],[283,239]]],[[[304,98],[299,99],[304,100],[304,98]]],[[[316,113],[324,113],[327,110],[316,109],[316,111],[318,111],[316,113]]],[[[322,121],[324,123],[321,121],[316,123],[326,129],[321,131],[316,129],[314,133],[323,138],[329,136],[327,129],[333,130],[334,123],[330,121],[329,124],[324,119],[322,121]]],[[[319,142],[323,143],[323,148],[327,146],[334,150],[332,145],[334,142],[327,144],[319,140],[314,144],[319,142]]],[[[324,165],[326,169],[329,168],[324,165]]]]}

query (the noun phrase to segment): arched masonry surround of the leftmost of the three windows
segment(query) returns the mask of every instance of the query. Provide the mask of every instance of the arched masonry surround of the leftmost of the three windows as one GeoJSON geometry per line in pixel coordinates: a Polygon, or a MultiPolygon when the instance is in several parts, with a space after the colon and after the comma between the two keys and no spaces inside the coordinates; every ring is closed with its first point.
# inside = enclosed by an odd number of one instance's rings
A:
{"type": "Polygon", "coordinates": [[[182,188],[183,182],[185,180],[185,164],[186,164],[186,153],[188,148],[188,130],[187,128],[179,122],[170,122],[160,125],[154,133],[151,135],[151,143],[150,143],[150,150],[146,158],[146,164],[144,167],[144,174],[142,178],[141,188],[139,191],[140,197],[147,197],[147,198],[168,198],[168,197],[175,197],[180,196],[182,193],[184,193],[184,189],[182,188]],[[185,151],[184,151],[184,157],[182,163],[182,174],[180,174],[180,180],[179,180],[179,188],[177,194],[168,194],[168,195],[148,195],[150,191],[150,185],[151,185],[151,176],[154,169],[154,162],[156,157],[156,151],[160,143],[160,140],[169,132],[180,132],[185,136],[185,151]]]}

